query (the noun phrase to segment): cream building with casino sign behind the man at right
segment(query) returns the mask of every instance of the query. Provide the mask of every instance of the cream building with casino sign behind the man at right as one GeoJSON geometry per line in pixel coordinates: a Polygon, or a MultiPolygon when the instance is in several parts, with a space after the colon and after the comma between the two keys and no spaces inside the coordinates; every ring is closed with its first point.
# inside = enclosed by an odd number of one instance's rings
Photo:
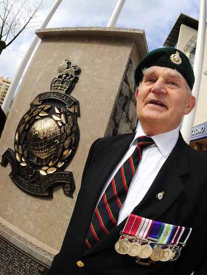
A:
{"type": "MultiPolygon", "coordinates": [[[[198,21],[192,17],[180,14],[168,37],[164,42],[165,47],[173,47],[184,52],[193,66],[197,41],[198,21]]],[[[207,34],[205,35],[207,37],[207,34]]],[[[197,102],[197,109],[193,129],[191,132],[190,145],[196,150],[207,153],[207,43],[202,68],[202,77],[197,102]]]]}

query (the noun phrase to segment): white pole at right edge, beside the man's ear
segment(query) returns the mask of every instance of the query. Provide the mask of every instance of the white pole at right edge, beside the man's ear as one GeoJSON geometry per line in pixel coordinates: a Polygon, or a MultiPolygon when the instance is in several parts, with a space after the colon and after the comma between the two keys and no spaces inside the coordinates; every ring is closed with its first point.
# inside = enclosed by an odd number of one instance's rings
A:
{"type": "Polygon", "coordinates": [[[194,60],[194,74],[195,83],[193,86],[192,94],[196,98],[196,105],[190,114],[185,115],[181,127],[181,133],[183,139],[187,144],[190,142],[191,131],[195,119],[195,112],[197,108],[197,100],[200,90],[200,81],[202,76],[202,65],[205,47],[205,30],[206,30],[206,0],[200,0],[200,11],[199,11],[199,23],[197,32],[197,44],[195,50],[195,60],[194,60]]]}

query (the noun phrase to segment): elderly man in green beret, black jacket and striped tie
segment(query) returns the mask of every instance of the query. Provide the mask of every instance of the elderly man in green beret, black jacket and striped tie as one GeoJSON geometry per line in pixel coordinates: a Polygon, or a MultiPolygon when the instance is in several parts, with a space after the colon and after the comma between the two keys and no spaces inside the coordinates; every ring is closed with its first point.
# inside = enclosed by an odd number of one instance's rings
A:
{"type": "Polygon", "coordinates": [[[207,158],[190,148],[179,132],[182,117],[195,105],[192,67],[181,51],[157,49],[141,60],[135,81],[136,133],[92,145],[74,213],[49,275],[207,273],[207,158]],[[191,227],[180,257],[139,262],[117,253],[114,245],[131,213],[173,228],[191,227]]]}

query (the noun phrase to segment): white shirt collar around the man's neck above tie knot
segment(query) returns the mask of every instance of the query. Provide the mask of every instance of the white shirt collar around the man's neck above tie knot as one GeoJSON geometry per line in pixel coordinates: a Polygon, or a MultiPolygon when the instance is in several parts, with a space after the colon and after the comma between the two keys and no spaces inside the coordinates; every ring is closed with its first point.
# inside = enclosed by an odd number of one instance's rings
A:
{"type": "MultiPolygon", "coordinates": [[[[139,122],[136,128],[134,139],[129,147],[131,147],[134,141],[141,135],[146,135],[146,133],[144,132],[139,122]]],[[[178,140],[178,136],[179,136],[179,126],[176,129],[173,129],[172,131],[156,134],[156,135],[150,136],[150,138],[154,140],[155,144],[157,145],[163,157],[166,157],[175,147],[178,140]]]]}

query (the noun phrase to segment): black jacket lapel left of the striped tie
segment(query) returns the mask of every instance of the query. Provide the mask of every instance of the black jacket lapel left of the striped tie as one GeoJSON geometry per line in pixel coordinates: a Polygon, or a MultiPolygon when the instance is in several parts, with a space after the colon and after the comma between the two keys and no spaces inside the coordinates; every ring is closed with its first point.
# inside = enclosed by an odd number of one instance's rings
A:
{"type": "Polygon", "coordinates": [[[87,171],[83,187],[81,187],[79,197],[77,198],[77,204],[79,205],[77,215],[80,215],[80,211],[82,213],[81,222],[77,230],[79,231],[79,236],[82,236],[82,240],[80,241],[82,242],[83,249],[92,216],[105,182],[127,151],[133,137],[134,134],[127,134],[125,138],[107,146],[104,152],[101,151],[99,153],[97,159],[90,165],[90,169],[87,171]]]}

